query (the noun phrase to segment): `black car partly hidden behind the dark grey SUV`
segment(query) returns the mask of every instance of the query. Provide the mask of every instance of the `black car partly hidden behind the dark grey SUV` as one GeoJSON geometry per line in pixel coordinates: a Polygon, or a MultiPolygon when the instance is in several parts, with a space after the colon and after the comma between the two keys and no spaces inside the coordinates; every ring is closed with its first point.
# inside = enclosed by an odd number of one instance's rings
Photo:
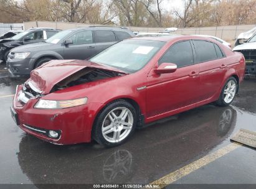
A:
{"type": "Polygon", "coordinates": [[[11,38],[3,39],[0,42],[0,60],[6,61],[9,51],[14,47],[42,42],[59,31],[53,28],[35,27],[14,35],[11,38]]]}

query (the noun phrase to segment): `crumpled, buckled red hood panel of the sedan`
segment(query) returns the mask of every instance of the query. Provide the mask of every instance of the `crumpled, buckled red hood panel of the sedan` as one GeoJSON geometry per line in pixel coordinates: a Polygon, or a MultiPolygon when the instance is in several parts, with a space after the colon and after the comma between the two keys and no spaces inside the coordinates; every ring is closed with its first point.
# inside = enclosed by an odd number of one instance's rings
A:
{"type": "Polygon", "coordinates": [[[32,85],[42,91],[42,94],[48,94],[54,85],[77,71],[88,67],[125,73],[116,68],[103,66],[87,60],[51,60],[36,70],[31,71],[31,78],[29,80],[32,85]]]}

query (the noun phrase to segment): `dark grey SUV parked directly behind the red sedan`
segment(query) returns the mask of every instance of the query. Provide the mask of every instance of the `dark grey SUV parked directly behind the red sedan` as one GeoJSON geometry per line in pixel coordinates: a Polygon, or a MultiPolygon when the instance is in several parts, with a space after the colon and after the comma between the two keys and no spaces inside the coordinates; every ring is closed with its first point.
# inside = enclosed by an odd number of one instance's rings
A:
{"type": "Polygon", "coordinates": [[[84,60],[116,42],[135,36],[123,27],[83,27],[63,30],[37,44],[11,50],[7,67],[14,75],[28,75],[31,70],[53,59],[84,60]]]}

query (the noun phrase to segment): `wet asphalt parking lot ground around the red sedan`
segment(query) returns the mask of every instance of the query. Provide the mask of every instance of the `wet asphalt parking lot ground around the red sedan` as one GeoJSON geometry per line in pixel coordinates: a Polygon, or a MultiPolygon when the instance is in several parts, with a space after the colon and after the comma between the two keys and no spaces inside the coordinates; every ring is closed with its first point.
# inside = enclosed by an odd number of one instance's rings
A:
{"type": "Polygon", "coordinates": [[[207,104],[137,130],[125,144],[54,145],[25,134],[9,107],[16,85],[0,65],[0,183],[256,184],[255,149],[236,145],[239,129],[256,131],[256,80],[244,80],[232,106],[207,104]]]}

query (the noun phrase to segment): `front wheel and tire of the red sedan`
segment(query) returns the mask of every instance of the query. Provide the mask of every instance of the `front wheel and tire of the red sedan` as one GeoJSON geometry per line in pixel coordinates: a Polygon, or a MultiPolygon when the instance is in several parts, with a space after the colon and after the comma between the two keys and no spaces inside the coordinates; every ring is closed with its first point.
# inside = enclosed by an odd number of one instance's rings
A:
{"type": "Polygon", "coordinates": [[[123,144],[135,131],[136,110],[125,100],[108,104],[95,119],[92,137],[105,147],[123,144]]]}

